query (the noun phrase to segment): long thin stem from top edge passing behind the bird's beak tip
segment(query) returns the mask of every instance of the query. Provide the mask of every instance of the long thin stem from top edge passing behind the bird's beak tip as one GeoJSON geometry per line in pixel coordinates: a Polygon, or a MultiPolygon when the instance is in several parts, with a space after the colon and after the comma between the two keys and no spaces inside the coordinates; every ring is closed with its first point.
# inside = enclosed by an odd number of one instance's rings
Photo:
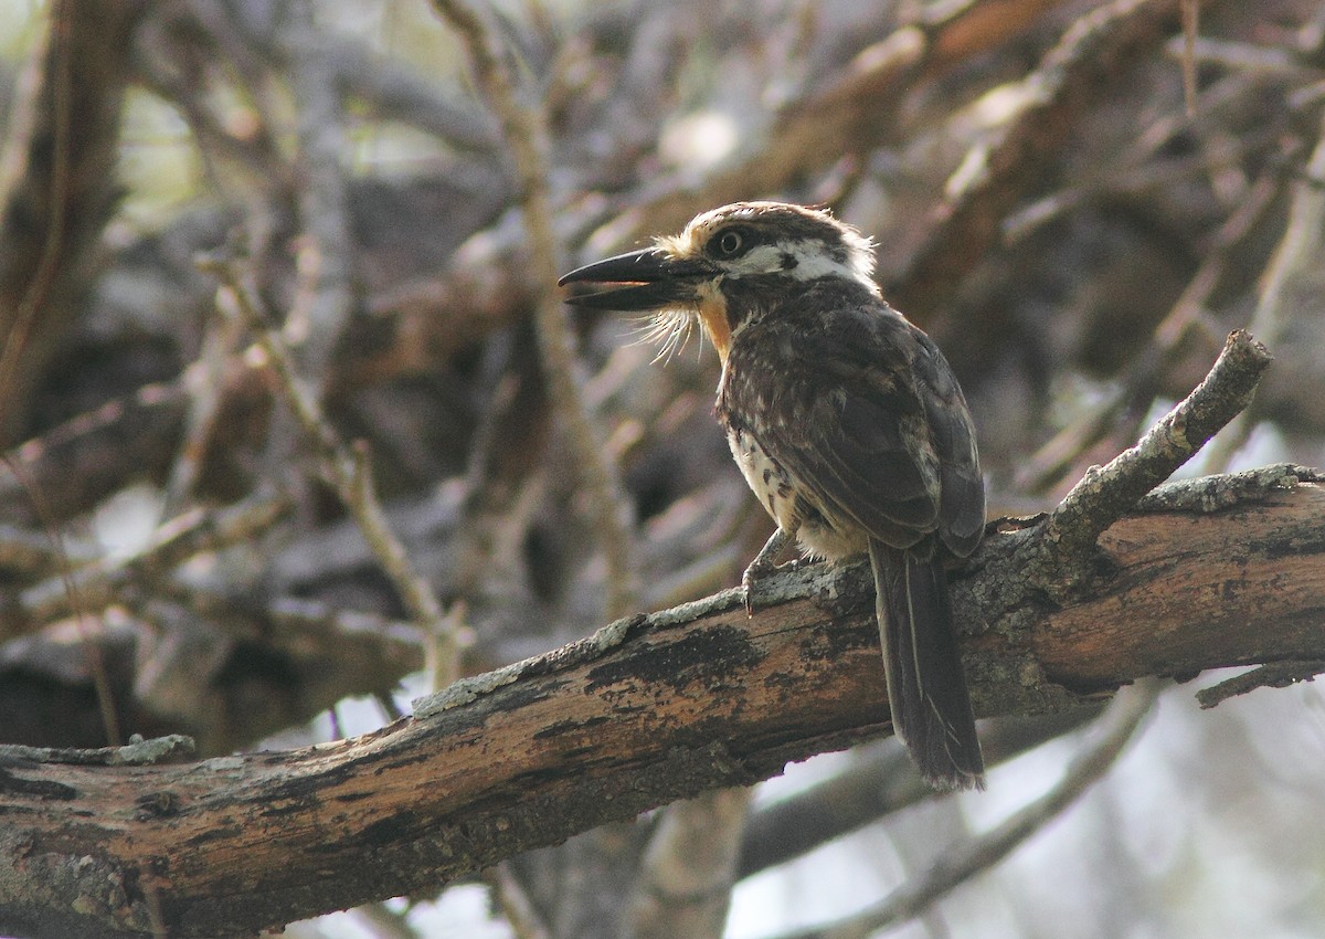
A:
{"type": "Polygon", "coordinates": [[[607,607],[620,617],[636,606],[632,512],[621,495],[616,467],[603,447],[584,403],[575,338],[563,304],[550,292],[556,282],[556,239],[547,192],[547,134],[542,111],[515,97],[514,81],[484,20],[460,0],[435,0],[437,12],[460,33],[474,80],[502,125],[519,182],[531,255],[530,280],[538,292],[535,324],[549,398],[575,451],[594,528],[607,561],[607,607]]]}

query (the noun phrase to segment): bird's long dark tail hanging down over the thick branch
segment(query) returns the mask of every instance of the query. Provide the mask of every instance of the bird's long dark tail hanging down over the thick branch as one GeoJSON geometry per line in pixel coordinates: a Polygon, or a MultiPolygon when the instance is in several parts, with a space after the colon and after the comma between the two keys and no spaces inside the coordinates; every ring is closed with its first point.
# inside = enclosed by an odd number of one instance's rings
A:
{"type": "Polygon", "coordinates": [[[947,574],[933,538],[910,549],[869,540],[893,729],[925,780],[983,789],[984,760],[953,631],[947,574]]]}

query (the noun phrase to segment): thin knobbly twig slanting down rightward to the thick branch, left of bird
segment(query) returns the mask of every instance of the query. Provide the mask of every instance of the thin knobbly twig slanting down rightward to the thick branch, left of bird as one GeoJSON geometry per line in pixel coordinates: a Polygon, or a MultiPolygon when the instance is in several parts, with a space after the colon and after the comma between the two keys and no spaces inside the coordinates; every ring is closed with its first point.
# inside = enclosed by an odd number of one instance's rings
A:
{"type": "Polygon", "coordinates": [[[295,371],[285,342],[268,326],[257,292],[240,272],[238,265],[219,260],[204,260],[200,265],[220,277],[238,316],[253,332],[276,373],[290,411],[314,446],[322,477],[335,489],[359,531],[363,532],[368,548],[391,580],[405,609],[409,610],[409,615],[431,635],[437,637],[436,660],[431,663],[436,680],[443,684],[456,680],[460,676],[460,635],[382,511],[372,485],[367,448],[347,446],[327,423],[317,398],[295,371]]]}

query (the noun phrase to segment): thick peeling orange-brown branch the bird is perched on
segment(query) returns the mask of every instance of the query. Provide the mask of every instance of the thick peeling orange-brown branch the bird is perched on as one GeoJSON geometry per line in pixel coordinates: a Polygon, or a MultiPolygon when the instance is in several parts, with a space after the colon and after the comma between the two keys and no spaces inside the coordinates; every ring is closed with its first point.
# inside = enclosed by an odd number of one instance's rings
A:
{"type": "MultiPolygon", "coordinates": [[[[1020,607],[978,607],[1003,576],[988,561],[1026,532],[991,537],[957,572],[979,712],[1325,658],[1318,483],[1279,467],[1181,484],[1105,532],[1110,572],[1063,609],[1037,607],[1031,584],[1020,607]]],[[[886,733],[864,569],[770,586],[782,599],[754,619],[735,590],[624,619],[354,740],[132,768],[4,756],[0,930],[147,935],[154,897],[171,936],[242,935],[886,733]]]]}

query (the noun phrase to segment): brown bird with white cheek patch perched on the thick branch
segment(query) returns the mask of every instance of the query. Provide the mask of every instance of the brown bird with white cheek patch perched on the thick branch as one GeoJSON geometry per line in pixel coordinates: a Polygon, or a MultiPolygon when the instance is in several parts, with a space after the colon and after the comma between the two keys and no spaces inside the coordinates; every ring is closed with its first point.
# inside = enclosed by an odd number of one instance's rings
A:
{"type": "Polygon", "coordinates": [[[792,540],[808,560],[868,554],[893,732],[935,789],[983,788],[946,570],[984,533],[975,427],[874,264],[829,210],[738,202],[558,284],[578,306],[651,314],[668,351],[698,322],[722,366],[714,414],[778,525],[742,577],[747,611],[792,540]]]}

